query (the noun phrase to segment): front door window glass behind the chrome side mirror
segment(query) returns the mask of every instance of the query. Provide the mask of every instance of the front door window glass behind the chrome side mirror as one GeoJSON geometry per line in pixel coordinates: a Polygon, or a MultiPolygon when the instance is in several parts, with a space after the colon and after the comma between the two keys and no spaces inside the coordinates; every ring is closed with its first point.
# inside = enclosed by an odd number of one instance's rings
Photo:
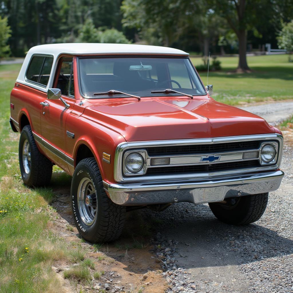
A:
{"type": "Polygon", "coordinates": [[[74,96],[73,59],[65,57],[59,62],[61,65],[56,87],[61,90],[62,95],[74,96]]]}

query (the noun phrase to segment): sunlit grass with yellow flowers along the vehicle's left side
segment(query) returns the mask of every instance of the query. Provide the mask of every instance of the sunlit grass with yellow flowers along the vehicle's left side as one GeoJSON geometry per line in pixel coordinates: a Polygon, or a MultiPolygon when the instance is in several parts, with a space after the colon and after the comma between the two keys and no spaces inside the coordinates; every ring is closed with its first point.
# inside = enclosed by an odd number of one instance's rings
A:
{"type": "MultiPolygon", "coordinates": [[[[53,262],[77,262],[84,272],[88,269],[80,246],[69,247],[48,228],[52,190],[30,189],[22,183],[19,134],[9,125],[9,96],[19,69],[20,64],[0,65],[0,292],[59,293],[63,290],[51,269],[53,262]]],[[[66,175],[57,176],[58,168],[54,171],[52,186],[56,187],[66,175]]]]}

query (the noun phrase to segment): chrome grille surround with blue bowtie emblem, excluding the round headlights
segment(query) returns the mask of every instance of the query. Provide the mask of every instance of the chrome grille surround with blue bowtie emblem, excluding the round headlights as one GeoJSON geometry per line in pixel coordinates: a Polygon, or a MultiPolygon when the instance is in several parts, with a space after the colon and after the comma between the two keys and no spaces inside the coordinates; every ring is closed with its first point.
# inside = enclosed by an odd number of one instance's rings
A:
{"type": "Polygon", "coordinates": [[[273,170],[280,167],[282,147],[279,134],[124,142],[116,149],[114,178],[116,182],[194,180],[273,170]],[[260,151],[272,142],[276,144],[276,161],[265,165],[260,151]],[[125,157],[131,152],[144,158],[138,173],[125,173],[125,157]]]}

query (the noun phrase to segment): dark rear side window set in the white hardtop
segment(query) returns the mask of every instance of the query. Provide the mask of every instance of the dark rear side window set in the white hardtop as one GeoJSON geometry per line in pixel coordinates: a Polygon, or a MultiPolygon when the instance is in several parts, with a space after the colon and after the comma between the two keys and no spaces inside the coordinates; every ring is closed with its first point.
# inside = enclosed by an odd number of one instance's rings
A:
{"type": "Polygon", "coordinates": [[[28,65],[26,79],[47,86],[52,69],[53,57],[33,56],[28,65]]]}

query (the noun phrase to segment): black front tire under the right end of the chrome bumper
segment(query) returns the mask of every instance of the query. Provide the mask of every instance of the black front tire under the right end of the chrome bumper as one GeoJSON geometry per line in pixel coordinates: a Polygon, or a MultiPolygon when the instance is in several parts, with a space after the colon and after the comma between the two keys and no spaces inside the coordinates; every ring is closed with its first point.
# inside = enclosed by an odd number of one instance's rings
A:
{"type": "Polygon", "coordinates": [[[222,222],[246,225],[256,222],[265,212],[268,193],[232,197],[225,204],[209,203],[213,214],[222,222]]]}

